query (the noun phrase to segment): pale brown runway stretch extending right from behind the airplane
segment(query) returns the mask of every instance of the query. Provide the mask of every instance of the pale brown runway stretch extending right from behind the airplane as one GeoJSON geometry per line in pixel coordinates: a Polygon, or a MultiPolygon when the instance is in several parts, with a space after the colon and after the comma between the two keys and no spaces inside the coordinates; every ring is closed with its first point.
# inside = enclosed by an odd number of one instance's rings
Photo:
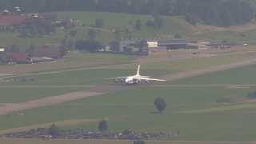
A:
{"type": "Polygon", "coordinates": [[[167,81],[175,81],[181,78],[189,78],[189,77],[194,77],[202,74],[214,73],[221,70],[230,70],[236,67],[250,66],[254,64],[256,64],[256,58],[248,61],[244,61],[244,62],[235,62],[227,65],[220,65],[220,66],[214,66],[214,67],[205,68],[205,69],[180,72],[178,74],[169,74],[164,76],[163,78],[165,78],[167,81]]]}

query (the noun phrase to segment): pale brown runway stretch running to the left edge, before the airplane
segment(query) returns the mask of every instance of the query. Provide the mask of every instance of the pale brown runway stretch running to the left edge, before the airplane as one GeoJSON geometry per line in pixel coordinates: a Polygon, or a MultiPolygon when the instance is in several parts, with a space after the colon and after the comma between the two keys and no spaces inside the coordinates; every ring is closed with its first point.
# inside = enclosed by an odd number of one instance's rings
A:
{"type": "Polygon", "coordinates": [[[38,108],[40,106],[51,106],[51,105],[62,103],[62,102],[68,102],[68,101],[73,101],[73,100],[77,100],[77,99],[88,98],[88,97],[92,97],[92,96],[96,96],[96,95],[100,95],[100,94],[102,94],[102,93],[76,92],[76,93],[70,93],[70,94],[62,94],[62,95],[58,95],[58,96],[54,96],[54,97],[40,98],[40,99],[36,99],[36,100],[31,100],[28,102],[7,104],[5,106],[0,106],[0,115],[9,114],[9,113],[15,112],[15,111],[38,108]]]}

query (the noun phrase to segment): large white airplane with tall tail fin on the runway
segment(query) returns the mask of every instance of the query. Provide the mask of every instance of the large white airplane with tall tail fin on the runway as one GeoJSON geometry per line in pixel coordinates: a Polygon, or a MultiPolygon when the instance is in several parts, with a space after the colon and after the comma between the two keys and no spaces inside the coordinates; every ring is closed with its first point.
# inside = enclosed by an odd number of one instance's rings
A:
{"type": "Polygon", "coordinates": [[[136,75],[132,76],[125,76],[125,77],[117,77],[117,78],[106,78],[106,79],[114,79],[115,82],[124,82],[127,85],[131,84],[138,84],[140,82],[151,82],[151,81],[156,81],[156,82],[165,82],[166,80],[164,79],[155,79],[155,78],[150,78],[150,76],[142,76],[140,75],[140,65],[138,65],[138,70],[136,75]]]}

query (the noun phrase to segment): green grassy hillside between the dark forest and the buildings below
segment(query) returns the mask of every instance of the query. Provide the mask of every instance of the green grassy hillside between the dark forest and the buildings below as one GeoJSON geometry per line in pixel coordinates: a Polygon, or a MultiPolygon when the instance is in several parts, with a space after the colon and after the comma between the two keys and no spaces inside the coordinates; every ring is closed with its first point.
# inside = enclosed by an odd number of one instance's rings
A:
{"type": "MultiPolygon", "coordinates": [[[[97,30],[97,40],[108,43],[117,35],[116,30],[121,30],[121,38],[174,38],[175,34],[181,34],[182,38],[190,39],[206,39],[211,41],[231,41],[244,42],[256,41],[256,26],[251,22],[246,26],[234,26],[229,28],[220,28],[217,26],[192,26],[186,22],[183,17],[162,17],[164,25],[162,28],[153,28],[146,26],[145,23],[151,19],[150,15],[138,14],[119,14],[107,12],[57,12],[58,18],[74,18],[82,26],[74,29],[78,30],[78,34],[72,41],[88,38],[87,31],[91,28],[97,30]],[[103,19],[104,26],[102,29],[96,29],[94,26],[95,19],[103,19]],[[135,30],[134,23],[141,20],[142,30],[135,30]]],[[[72,30],[74,30],[72,29],[72,30]]],[[[30,46],[42,45],[45,43],[61,42],[70,30],[58,28],[55,34],[44,36],[42,38],[19,38],[15,32],[0,32],[0,45],[30,46]]]]}

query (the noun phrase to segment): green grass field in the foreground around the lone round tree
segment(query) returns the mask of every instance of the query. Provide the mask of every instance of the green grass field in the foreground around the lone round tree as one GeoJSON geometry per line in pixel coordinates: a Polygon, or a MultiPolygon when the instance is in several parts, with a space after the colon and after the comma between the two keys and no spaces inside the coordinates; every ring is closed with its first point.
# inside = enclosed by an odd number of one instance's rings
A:
{"type": "MultiPolygon", "coordinates": [[[[8,114],[8,117],[2,115],[0,123],[6,124],[1,126],[4,130],[62,122],[68,119],[108,118],[110,130],[179,130],[181,135],[178,140],[253,141],[255,138],[253,131],[256,128],[253,125],[256,106],[238,106],[238,108],[226,110],[226,107],[232,104],[216,102],[219,98],[243,100],[252,90],[255,88],[228,89],[225,86],[132,88],[56,106],[25,110],[22,111],[24,114],[22,116],[15,113],[8,114]],[[155,113],[153,102],[158,96],[166,99],[167,109],[164,114],[155,113]],[[208,110],[218,107],[223,107],[223,110],[208,110]],[[190,112],[188,110],[205,111],[190,112]],[[19,122],[16,122],[17,119],[19,122]]],[[[70,128],[70,126],[67,127],[70,128]]],[[[95,130],[97,122],[71,127],[95,130]]]]}

